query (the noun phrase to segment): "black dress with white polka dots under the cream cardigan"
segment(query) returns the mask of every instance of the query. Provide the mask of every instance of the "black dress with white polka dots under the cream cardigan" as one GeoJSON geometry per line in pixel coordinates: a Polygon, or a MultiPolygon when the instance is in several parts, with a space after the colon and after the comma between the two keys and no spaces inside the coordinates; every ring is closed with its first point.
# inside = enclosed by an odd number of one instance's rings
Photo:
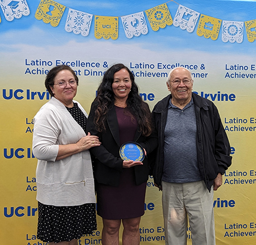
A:
{"type": "MultiPolygon", "coordinates": [[[[67,110],[85,130],[87,119],[77,103],[67,110]]],[[[59,207],[38,202],[37,239],[43,242],[70,242],[96,229],[95,203],[59,207]]]]}

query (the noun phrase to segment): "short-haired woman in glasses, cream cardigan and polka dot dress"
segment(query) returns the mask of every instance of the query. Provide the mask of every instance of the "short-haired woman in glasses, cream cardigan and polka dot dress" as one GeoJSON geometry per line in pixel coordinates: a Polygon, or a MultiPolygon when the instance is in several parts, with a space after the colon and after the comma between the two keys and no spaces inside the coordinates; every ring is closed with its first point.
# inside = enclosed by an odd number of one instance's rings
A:
{"type": "Polygon", "coordinates": [[[37,238],[49,244],[77,244],[96,230],[91,147],[99,138],[86,135],[87,114],[73,101],[78,77],[69,66],[51,69],[45,86],[52,98],[34,117],[33,153],[38,158],[37,238]]]}

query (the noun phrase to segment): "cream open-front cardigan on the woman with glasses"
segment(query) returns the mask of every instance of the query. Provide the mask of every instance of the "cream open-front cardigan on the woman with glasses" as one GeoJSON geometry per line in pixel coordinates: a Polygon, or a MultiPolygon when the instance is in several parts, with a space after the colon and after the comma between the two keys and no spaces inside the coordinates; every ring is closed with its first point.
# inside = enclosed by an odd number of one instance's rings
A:
{"type": "MultiPolygon", "coordinates": [[[[80,103],[78,106],[87,117],[80,103]]],[[[33,131],[33,154],[38,159],[37,201],[53,206],[95,203],[89,151],[56,161],[59,144],[76,143],[85,136],[85,131],[56,98],[52,97],[37,112],[33,131]]]]}

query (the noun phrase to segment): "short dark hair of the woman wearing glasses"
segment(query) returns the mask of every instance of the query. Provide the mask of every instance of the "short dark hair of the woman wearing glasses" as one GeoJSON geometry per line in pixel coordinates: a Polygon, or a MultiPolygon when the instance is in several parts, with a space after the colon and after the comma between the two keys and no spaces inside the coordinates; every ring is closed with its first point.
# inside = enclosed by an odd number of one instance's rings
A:
{"type": "Polygon", "coordinates": [[[54,87],[55,76],[62,70],[70,71],[73,74],[74,79],[77,81],[77,85],[78,85],[78,77],[76,73],[72,70],[72,68],[70,68],[67,65],[55,66],[48,72],[45,78],[45,87],[47,88],[48,92],[51,94],[51,97],[54,97],[54,93],[52,93],[51,87],[54,87]]]}

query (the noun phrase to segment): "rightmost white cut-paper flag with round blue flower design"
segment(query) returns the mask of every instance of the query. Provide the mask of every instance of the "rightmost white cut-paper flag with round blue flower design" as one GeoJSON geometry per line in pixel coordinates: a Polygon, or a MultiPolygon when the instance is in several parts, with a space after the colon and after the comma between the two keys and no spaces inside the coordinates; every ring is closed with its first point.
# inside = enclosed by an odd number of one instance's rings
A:
{"type": "Polygon", "coordinates": [[[222,41],[227,43],[241,43],[244,37],[244,22],[222,21],[222,41]]]}

